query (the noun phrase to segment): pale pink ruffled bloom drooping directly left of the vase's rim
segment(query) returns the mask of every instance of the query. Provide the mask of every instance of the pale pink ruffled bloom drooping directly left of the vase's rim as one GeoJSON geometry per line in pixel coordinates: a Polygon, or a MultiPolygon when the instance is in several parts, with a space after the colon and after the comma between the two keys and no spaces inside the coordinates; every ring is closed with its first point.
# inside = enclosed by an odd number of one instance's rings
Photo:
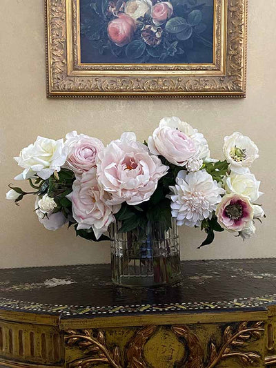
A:
{"type": "Polygon", "coordinates": [[[92,228],[97,239],[115,221],[113,213],[120,209],[120,206],[106,204],[109,195],[99,188],[96,168],[83,173],[81,180],[75,180],[72,192],[67,197],[72,202],[72,214],[78,222],[77,229],[92,228]]]}

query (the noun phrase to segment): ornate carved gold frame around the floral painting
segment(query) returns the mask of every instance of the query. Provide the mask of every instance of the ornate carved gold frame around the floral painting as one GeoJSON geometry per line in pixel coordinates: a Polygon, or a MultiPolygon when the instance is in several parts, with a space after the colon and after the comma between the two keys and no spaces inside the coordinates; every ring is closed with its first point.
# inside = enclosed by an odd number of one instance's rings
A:
{"type": "Polygon", "coordinates": [[[79,0],[45,0],[47,97],[246,97],[248,0],[214,0],[213,64],[81,64],[79,0]]]}

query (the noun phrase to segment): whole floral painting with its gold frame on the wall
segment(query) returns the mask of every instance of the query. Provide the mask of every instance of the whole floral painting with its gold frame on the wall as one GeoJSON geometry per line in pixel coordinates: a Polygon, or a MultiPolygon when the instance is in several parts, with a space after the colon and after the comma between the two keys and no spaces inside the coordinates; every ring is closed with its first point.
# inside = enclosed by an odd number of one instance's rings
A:
{"type": "Polygon", "coordinates": [[[48,97],[245,97],[247,0],[46,0],[48,97]]]}

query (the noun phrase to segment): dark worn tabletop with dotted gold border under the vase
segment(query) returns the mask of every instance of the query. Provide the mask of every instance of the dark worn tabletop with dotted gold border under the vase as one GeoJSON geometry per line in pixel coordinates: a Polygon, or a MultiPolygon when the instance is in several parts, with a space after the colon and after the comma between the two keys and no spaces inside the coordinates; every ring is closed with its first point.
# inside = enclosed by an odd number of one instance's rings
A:
{"type": "Polygon", "coordinates": [[[0,269],[0,309],[78,318],[276,304],[276,259],[186,261],[181,270],[171,287],[125,289],[112,284],[109,264],[0,269]]]}

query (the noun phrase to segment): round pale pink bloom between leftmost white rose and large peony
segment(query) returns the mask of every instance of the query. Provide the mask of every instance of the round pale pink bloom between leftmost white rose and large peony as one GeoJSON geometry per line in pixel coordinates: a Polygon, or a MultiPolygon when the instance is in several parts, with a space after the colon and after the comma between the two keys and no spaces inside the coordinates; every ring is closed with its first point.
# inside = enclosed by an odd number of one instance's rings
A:
{"type": "Polygon", "coordinates": [[[65,145],[68,147],[68,157],[65,167],[76,175],[81,175],[96,166],[96,155],[104,146],[97,138],[85,134],[77,134],[74,130],[66,135],[65,145]]]}

